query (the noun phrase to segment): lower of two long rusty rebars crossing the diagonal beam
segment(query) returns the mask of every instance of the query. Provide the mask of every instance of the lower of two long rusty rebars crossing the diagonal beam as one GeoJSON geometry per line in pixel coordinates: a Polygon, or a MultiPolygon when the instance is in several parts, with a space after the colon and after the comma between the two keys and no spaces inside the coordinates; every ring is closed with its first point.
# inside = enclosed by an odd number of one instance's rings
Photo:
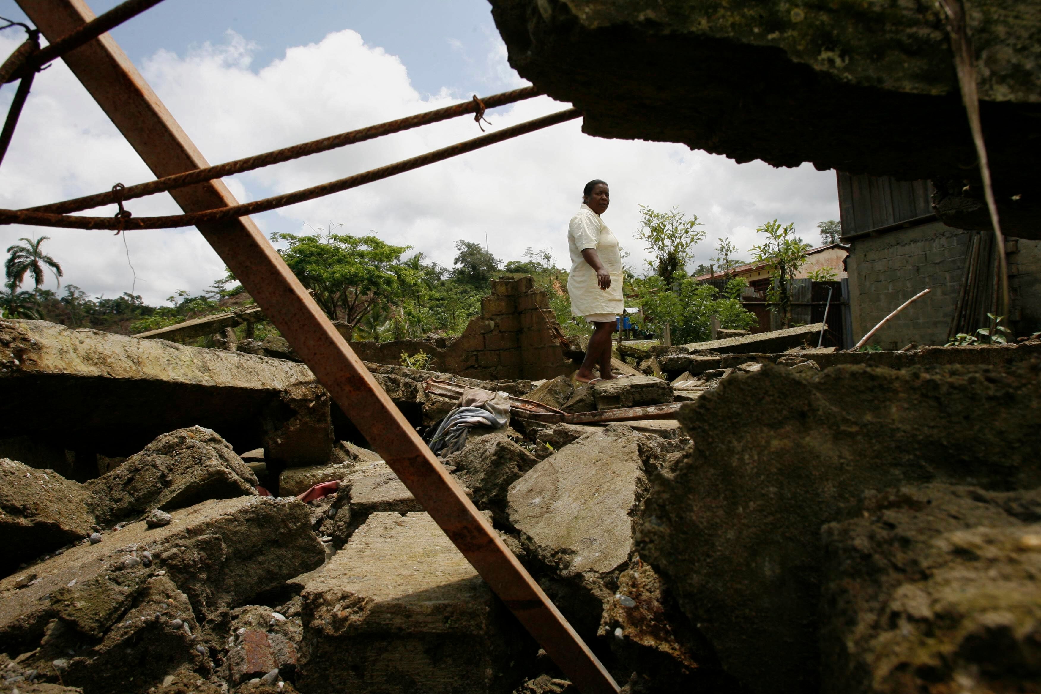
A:
{"type": "Polygon", "coordinates": [[[449,159],[451,157],[473,152],[474,150],[494,145],[512,137],[517,137],[535,130],[548,128],[551,125],[564,123],[582,115],[582,111],[577,108],[567,108],[550,115],[543,115],[525,123],[520,123],[508,128],[503,128],[497,132],[489,132],[473,139],[463,140],[450,147],[434,150],[410,159],[403,159],[396,163],[373,169],[361,174],[348,176],[335,181],[314,185],[309,188],[302,188],[293,192],[286,192],[272,198],[255,200],[231,207],[220,207],[203,212],[193,212],[189,214],[171,214],[166,216],[137,216],[113,219],[107,216],[79,216],[66,214],[52,214],[49,212],[36,212],[32,210],[0,210],[0,224],[29,224],[41,227],[61,227],[65,229],[170,229],[174,227],[192,227],[211,222],[223,222],[239,216],[266,212],[268,210],[296,205],[297,203],[314,200],[334,192],[355,188],[365,183],[372,183],[384,178],[397,176],[413,169],[426,166],[427,164],[449,159]]]}

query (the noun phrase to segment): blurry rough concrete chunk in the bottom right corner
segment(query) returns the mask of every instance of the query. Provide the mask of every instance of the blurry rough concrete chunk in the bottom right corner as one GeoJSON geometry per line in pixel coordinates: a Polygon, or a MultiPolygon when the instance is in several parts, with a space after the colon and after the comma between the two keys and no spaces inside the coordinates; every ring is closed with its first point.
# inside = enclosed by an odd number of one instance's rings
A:
{"type": "Polygon", "coordinates": [[[892,489],[822,536],[821,691],[1041,682],[1041,491],[892,489]]]}

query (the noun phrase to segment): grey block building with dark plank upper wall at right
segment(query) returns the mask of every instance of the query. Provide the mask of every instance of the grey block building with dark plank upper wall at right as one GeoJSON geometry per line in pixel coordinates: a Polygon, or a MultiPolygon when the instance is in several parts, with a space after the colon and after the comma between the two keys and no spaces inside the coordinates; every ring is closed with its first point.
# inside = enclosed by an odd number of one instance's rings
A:
{"type": "MultiPolygon", "coordinates": [[[[939,221],[929,181],[838,173],[842,240],[849,245],[849,308],[857,339],[922,289],[932,291],[872,337],[885,350],[945,344],[988,327],[997,310],[994,234],[939,221]]],[[[1041,330],[1041,241],[1007,238],[1011,293],[1007,324],[1041,330]]]]}

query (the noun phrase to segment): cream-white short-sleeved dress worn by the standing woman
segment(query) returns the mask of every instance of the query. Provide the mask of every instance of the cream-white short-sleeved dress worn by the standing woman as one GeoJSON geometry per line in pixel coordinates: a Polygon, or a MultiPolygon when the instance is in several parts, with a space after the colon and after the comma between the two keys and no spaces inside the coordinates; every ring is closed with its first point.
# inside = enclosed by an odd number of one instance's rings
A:
{"type": "Polygon", "coordinates": [[[588,205],[583,204],[579,213],[567,225],[567,251],[572,256],[572,273],[567,277],[572,315],[621,313],[625,300],[621,295],[618,239],[588,205]],[[611,286],[608,289],[600,288],[595,271],[582,257],[584,249],[596,249],[604,269],[611,274],[611,286]]]}

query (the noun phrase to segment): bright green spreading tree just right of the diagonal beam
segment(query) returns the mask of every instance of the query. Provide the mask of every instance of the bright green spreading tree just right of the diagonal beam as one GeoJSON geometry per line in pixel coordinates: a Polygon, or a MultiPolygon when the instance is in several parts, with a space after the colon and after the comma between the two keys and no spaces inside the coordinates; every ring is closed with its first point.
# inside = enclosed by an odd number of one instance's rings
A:
{"type": "Polygon", "coordinates": [[[410,246],[390,246],[376,236],[327,234],[298,236],[276,233],[285,241],[279,251],[314,301],[334,320],[354,332],[358,323],[379,305],[397,301],[407,283],[401,254],[410,246]]]}

